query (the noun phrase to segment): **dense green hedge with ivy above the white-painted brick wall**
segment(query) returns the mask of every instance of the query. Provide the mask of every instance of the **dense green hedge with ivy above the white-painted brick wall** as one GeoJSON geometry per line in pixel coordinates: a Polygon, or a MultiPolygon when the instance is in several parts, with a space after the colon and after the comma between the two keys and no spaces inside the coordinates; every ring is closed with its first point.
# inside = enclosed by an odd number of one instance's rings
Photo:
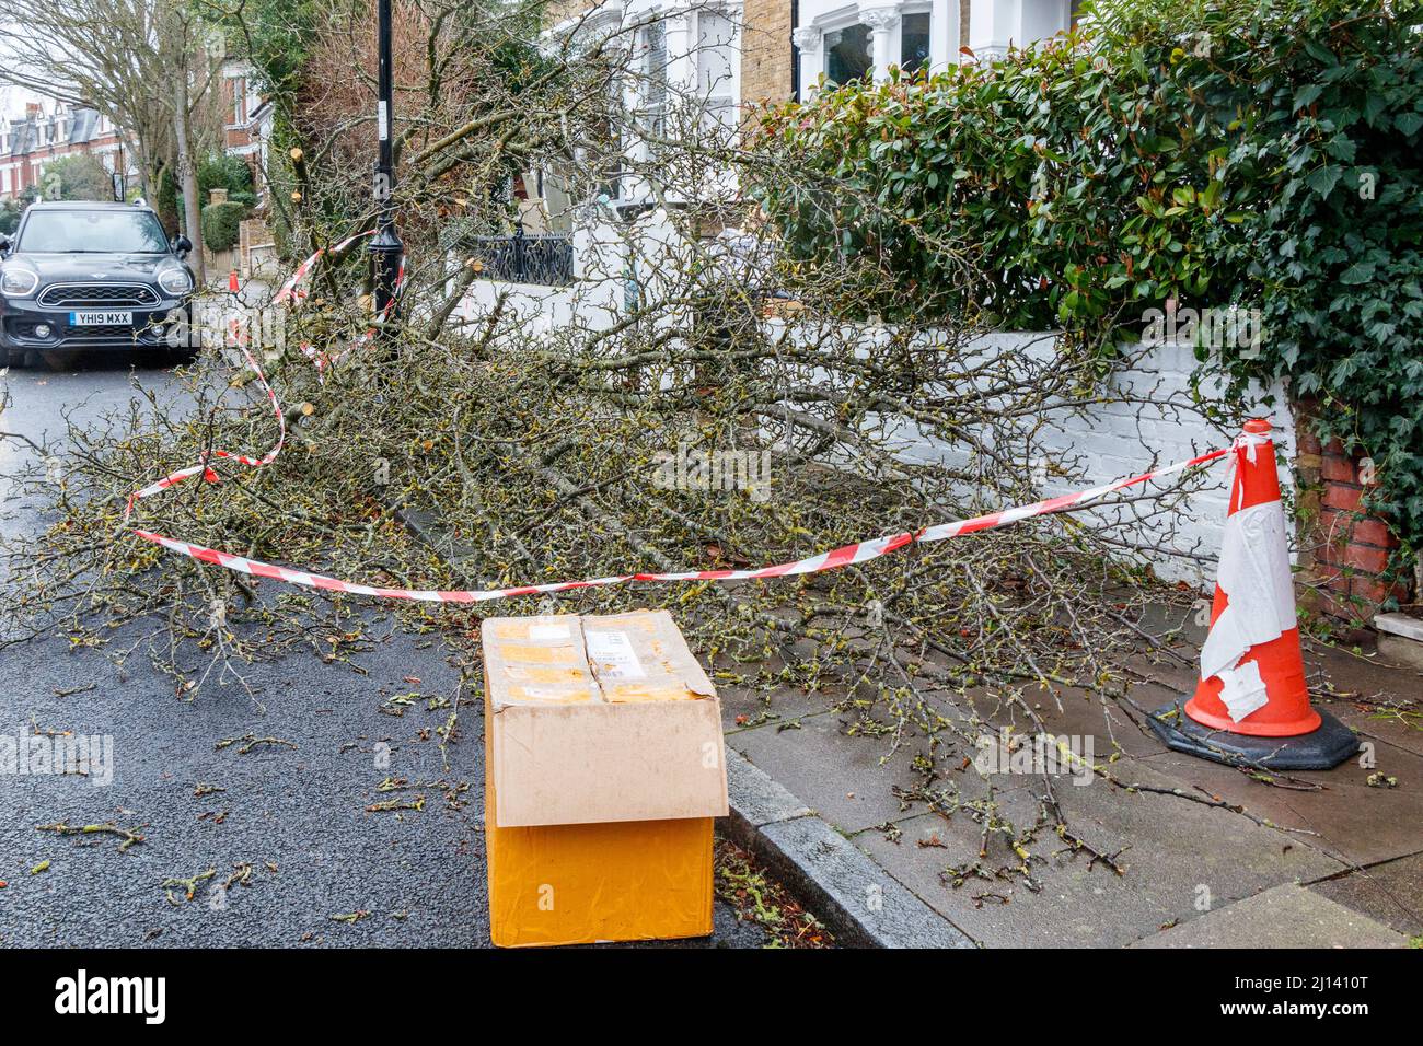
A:
{"type": "Polygon", "coordinates": [[[1373,458],[1372,507],[1423,548],[1417,0],[1101,0],[1083,24],[771,110],[771,147],[820,178],[748,188],[804,265],[862,269],[888,316],[1110,350],[1171,299],[1259,310],[1254,352],[1198,359],[1318,398],[1322,434],[1373,458]]]}

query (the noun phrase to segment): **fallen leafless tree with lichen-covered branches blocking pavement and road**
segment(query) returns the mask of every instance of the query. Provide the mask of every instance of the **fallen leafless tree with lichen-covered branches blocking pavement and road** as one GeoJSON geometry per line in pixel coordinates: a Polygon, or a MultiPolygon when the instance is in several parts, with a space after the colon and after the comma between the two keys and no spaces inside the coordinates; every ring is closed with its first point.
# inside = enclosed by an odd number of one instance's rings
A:
{"type": "MultiPolygon", "coordinates": [[[[443,31],[431,31],[435,61],[441,47],[470,43],[443,31]]],[[[542,88],[521,80],[518,105],[491,81],[444,135],[410,118],[401,205],[411,258],[400,317],[361,339],[371,319],[351,263],[360,241],[317,260],[309,296],[282,312],[279,336],[252,346],[289,426],[270,464],[215,455],[259,457],[276,441],[262,383],[222,347],[188,376],[186,401],[144,394],[110,424],[38,448],[21,480],[51,495],[51,525],[38,549],[9,549],[4,642],[60,629],[74,645],[108,649],[115,635],[137,635],[110,653],[122,660],[145,649],[192,697],[208,679],[240,682],[255,657],[295,646],[334,657],[370,642],[361,605],[172,555],[137,539],[134,525],[393,588],[758,566],[1072,487],[1079,463],[1043,455],[1050,420],[1109,400],[1160,398],[1153,389],[1110,391],[1103,354],[1081,342],[995,350],[970,320],[925,309],[911,286],[875,280],[884,258],[874,249],[841,266],[800,265],[736,179],[713,179],[721,191],[709,195],[707,172],[815,175],[720,125],[707,130],[704,100],[673,98],[660,127],[609,105],[609,84],[636,87],[640,75],[623,54],[618,34],[569,41],[555,61],[572,80],[549,77],[542,88]],[[608,144],[633,135],[656,148],[629,157],[619,147],[618,174],[647,189],[650,218],[608,215],[596,202],[579,213],[610,229],[618,258],[647,266],[616,320],[592,319],[606,290],[596,275],[569,287],[571,319],[555,326],[504,296],[474,315],[450,307],[480,266],[450,229],[501,228],[509,208],[471,185],[488,185],[511,155],[559,171],[566,185],[591,185],[606,174],[608,144]],[[736,235],[707,236],[709,228],[736,235]],[[887,296],[892,324],[871,316],[887,296]],[[847,316],[869,317],[868,326],[847,316]],[[330,363],[313,366],[313,353],[330,363]],[[911,434],[941,453],[906,455],[911,434]],[[694,480],[684,467],[693,458],[694,480]],[[208,481],[199,470],[125,518],[132,491],[195,463],[211,468],[208,481]],[[410,514],[435,515],[450,554],[414,541],[401,522],[410,514]]],[[[305,176],[324,188],[306,199],[343,198],[351,172],[314,159],[339,151],[307,144],[305,176]]],[[[337,223],[313,211],[300,212],[305,236],[333,242],[337,223]]],[[[364,221],[347,211],[340,232],[364,221]]],[[[976,265],[952,242],[936,249],[965,273],[976,265]]],[[[1198,410],[1177,398],[1180,411],[1198,410]]],[[[1143,468],[1153,464],[1150,447],[1140,454],[1143,468]]],[[[1192,481],[1177,477],[1116,504],[1170,534],[1183,482],[1192,481]]],[[[1040,835],[1120,867],[1067,824],[1052,774],[1040,776],[1039,817],[1010,824],[993,781],[969,764],[999,724],[1046,733],[1044,702],[1093,700],[1140,723],[1133,689],[1155,650],[1173,656],[1148,611],[1171,599],[1180,596],[1101,518],[1062,514],[777,581],[393,606],[403,626],[455,640],[475,636],[491,613],[666,606],[720,685],[761,693],[770,714],[785,687],[831,696],[847,733],[912,766],[906,805],[976,818],[985,854],[990,834],[1010,854],[1009,865],[978,871],[1033,885],[1040,835]]],[[[1084,770],[1110,776],[1113,754],[1084,770]]]]}

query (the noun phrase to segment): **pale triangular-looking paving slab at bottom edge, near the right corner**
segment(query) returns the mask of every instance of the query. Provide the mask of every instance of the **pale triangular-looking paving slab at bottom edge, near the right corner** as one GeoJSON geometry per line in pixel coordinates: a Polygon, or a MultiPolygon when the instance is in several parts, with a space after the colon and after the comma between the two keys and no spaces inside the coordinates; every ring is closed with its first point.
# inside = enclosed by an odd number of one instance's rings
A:
{"type": "Polygon", "coordinates": [[[1311,889],[1281,885],[1138,941],[1133,948],[1405,948],[1407,938],[1311,889]]]}

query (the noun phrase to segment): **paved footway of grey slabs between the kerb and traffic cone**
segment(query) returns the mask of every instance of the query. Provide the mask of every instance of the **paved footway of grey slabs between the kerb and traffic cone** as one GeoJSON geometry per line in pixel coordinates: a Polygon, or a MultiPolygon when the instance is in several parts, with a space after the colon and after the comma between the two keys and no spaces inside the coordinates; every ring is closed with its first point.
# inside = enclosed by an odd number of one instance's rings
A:
{"type": "MultiPolygon", "coordinates": [[[[1194,656],[1201,638],[1188,633],[1181,652],[1194,656]]],[[[783,689],[767,699],[727,687],[724,724],[731,750],[874,861],[841,892],[888,897],[889,882],[902,885],[983,946],[1407,945],[1423,938],[1423,675],[1372,652],[1313,648],[1306,663],[1316,690],[1340,694],[1326,704],[1365,744],[1328,773],[1261,780],[1168,751],[1087,694],[1064,697],[1060,712],[1040,699],[1047,729],[1091,739],[1097,763],[1113,756],[1113,739],[1120,746],[1107,768],[1137,787],[1079,787],[1070,774],[1054,787],[1070,828],[1120,875],[1072,852],[1052,820],[1025,864],[1005,823],[1020,831],[1039,817],[1036,773],[993,774],[999,805],[985,828],[986,783],[968,760],[926,780],[915,757],[929,740],[911,729],[889,757],[891,740],[851,734],[875,710],[848,694],[783,689]],[[1237,805],[1264,824],[1228,808],[1237,805]]],[[[1191,683],[1190,669],[1167,675],[1191,683]]],[[[1170,696],[1144,686],[1136,700],[1155,707],[1170,696]]],[[[946,703],[941,712],[953,714],[946,703]]],[[[993,722],[1015,726],[1010,716],[993,722]]],[[[939,754],[941,767],[953,763],[939,754]]]]}

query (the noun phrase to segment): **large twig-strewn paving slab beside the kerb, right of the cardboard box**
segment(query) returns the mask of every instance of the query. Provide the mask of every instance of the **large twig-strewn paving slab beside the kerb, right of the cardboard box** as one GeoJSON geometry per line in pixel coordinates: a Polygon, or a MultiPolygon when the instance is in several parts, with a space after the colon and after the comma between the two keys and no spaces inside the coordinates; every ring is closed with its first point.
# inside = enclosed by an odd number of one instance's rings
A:
{"type": "MultiPolygon", "coordinates": [[[[1146,766],[1118,773],[1123,780],[1173,787],[1146,766]]],[[[999,815],[1015,825],[1032,824],[1040,803],[1036,791],[1027,786],[1000,796],[999,815]]],[[[1040,887],[1035,891],[1013,871],[1020,861],[1006,837],[995,833],[982,861],[992,881],[968,878],[953,888],[941,872],[978,861],[982,837],[980,825],[962,811],[951,818],[924,814],[896,821],[898,844],[878,831],[854,838],[986,946],[1120,946],[1197,915],[1205,897],[1221,904],[1343,868],[1274,828],[1174,796],[1127,793],[1104,781],[1086,787],[1062,781],[1056,791],[1070,827],[1100,852],[1120,851],[1124,874],[1093,864],[1083,852],[1066,852],[1047,828],[1035,845],[1040,855],[1032,865],[1040,887]],[[919,845],[928,834],[941,845],[919,845]]]]}

